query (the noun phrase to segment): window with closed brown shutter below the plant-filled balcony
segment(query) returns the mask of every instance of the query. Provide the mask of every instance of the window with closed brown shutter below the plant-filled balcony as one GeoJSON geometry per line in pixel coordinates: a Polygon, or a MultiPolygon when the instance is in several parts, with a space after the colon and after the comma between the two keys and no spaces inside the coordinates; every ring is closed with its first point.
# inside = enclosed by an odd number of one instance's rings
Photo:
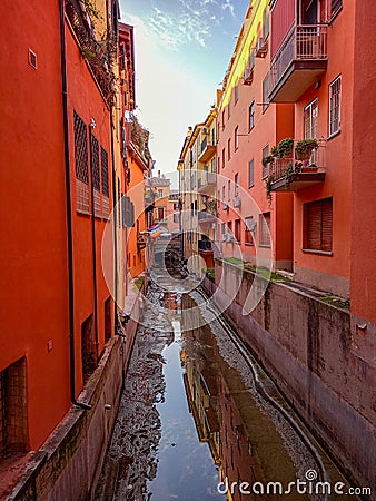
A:
{"type": "Polygon", "coordinates": [[[304,249],[332,252],[333,198],[304,204],[304,249]]]}

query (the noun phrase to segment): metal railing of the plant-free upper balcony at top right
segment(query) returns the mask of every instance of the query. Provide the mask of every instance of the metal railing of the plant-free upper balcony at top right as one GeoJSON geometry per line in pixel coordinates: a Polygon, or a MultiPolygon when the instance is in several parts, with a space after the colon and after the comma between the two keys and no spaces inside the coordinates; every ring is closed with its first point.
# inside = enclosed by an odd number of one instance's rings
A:
{"type": "Polygon", "coordinates": [[[327,59],[327,26],[293,26],[270,63],[270,91],[294,60],[327,59]]]}

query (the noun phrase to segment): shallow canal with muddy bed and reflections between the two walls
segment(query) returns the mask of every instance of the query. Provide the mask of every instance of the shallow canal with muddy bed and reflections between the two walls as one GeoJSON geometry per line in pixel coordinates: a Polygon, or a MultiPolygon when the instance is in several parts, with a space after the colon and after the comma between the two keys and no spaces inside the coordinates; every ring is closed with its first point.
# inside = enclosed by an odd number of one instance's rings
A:
{"type": "Polygon", "coordinates": [[[151,276],[96,499],[342,499],[346,480],[198,284],[151,276]]]}

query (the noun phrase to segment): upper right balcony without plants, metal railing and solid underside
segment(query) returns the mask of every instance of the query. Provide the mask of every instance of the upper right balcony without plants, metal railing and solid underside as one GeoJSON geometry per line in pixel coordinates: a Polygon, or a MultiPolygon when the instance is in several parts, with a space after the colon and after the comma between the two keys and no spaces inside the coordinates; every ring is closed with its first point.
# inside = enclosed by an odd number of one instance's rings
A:
{"type": "Polygon", "coordinates": [[[270,102],[295,102],[326,71],[327,26],[294,26],[270,63],[270,102]]]}

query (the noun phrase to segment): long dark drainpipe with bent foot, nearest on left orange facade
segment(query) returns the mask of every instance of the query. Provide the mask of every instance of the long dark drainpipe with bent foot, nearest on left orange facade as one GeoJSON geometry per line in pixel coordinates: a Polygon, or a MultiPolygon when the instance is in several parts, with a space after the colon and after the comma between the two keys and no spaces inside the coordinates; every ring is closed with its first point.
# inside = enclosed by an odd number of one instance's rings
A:
{"type": "Polygon", "coordinates": [[[70,400],[73,405],[89,411],[91,405],[76,400],[76,354],[75,354],[75,287],[73,287],[73,238],[71,215],[71,187],[69,161],[69,126],[67,92],[66,20],[65,0],[60,0],[60,62],[62,94],[62,127],[65,141],[66,207],[67,207],[67,250],[68,250],[68,303],[69,303],[69,362],[70,362],[70,400]]]}

